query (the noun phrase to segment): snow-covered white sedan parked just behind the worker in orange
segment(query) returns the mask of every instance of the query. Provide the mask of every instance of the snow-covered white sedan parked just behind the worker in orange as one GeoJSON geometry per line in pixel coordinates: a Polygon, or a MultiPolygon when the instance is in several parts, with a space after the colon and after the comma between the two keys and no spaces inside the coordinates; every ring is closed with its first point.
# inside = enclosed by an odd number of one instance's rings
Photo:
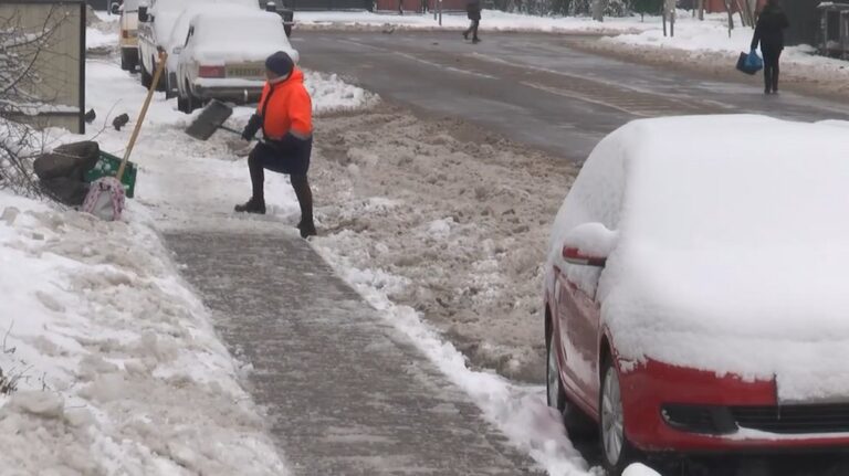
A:
{"type": "Polygon", "coordinates": [[[179,50],[178,107],[191,113],[209,99],[251,103],[265,84],[265,59],[285,51],[297,62],[276,13],[221,6],[195,15],[179,50]]]}

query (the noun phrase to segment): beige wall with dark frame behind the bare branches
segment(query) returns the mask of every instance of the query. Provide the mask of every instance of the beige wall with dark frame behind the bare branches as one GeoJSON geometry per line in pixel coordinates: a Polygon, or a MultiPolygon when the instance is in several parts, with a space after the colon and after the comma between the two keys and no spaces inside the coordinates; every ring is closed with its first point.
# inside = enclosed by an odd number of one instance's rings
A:
{"type": "Polygon", "coordinates": [[[35,84],[28,92],[40,105],[18,119],[39,127],[64,127],[84,133],[85,103],[85,3],[82,1],[2,0],[0,24],[11,24],[31,34],[49,31],[46,44],[35,55],[32,46],[17,50],[27,61],[36,57],[35,84]]]}

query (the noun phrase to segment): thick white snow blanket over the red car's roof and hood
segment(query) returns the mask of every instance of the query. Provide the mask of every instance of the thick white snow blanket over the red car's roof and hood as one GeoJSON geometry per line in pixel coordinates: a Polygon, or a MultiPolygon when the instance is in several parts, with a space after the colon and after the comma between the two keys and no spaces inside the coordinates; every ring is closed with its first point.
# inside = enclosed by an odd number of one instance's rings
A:
{"type": "Polygon", "coordinates": [[[750,115],[643,119],[597,146],[588,177],[599,166],[621,197],[581,200],[621,201],[597,294],[620,358],[776,375],[786,401],[849,400],[846,135],[750,115]]]}

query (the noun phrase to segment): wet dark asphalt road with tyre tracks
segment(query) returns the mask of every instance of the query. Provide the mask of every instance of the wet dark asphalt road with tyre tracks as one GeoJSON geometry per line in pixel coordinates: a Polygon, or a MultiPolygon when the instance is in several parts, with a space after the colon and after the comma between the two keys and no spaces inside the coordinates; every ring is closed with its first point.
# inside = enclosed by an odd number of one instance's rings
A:
{"type": "MultiPolygon", "coordinates": [[[[849,119],[849,106],[793,93],[764,96],[761,78],[723,82],[599,57],[574,36],[459,32],[297,31],[305,67],[346,80],[434,117],[459,117],[580,161],[628,120],[681,114],[767,114],[849,119]]],[[[730,65],[731,67],[731,65],[730,65]]]]}

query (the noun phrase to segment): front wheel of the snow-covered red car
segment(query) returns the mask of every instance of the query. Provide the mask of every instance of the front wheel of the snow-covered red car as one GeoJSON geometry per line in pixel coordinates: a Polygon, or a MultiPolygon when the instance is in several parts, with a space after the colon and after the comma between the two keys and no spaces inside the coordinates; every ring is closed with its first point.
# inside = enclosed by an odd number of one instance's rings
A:
{"type": "Polygon", "coordinates": [[[625,468],[637,459],[638,454],[625,434],[619,371],[610,357],[607,357],[601,364],[598,409],[601,461],[608,476],[620,476],[625,468]]]}

